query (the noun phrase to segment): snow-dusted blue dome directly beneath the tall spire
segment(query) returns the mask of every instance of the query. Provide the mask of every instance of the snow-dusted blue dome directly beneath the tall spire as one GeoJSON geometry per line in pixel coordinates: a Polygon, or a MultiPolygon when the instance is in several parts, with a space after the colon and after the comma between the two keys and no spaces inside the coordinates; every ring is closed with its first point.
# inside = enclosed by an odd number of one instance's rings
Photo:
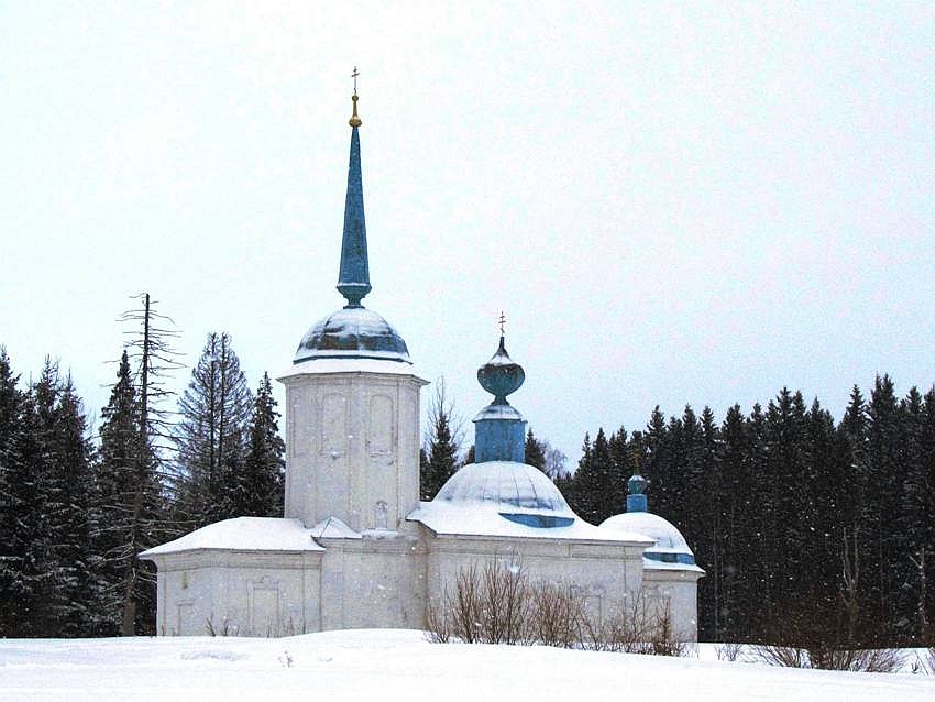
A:
{"type": "Polygon", "coordinates": [[[312,359],[382,359],[411,363],[403,337],[383,317],[365,307],[339,309],[309,329],[293,362],[312,359]]]}

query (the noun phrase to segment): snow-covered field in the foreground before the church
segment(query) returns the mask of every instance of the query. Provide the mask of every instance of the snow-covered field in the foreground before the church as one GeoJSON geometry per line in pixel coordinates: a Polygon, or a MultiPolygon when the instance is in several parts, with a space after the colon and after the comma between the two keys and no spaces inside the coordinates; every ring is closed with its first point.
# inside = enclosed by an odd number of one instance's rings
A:
{"type": "Polygon", "coordinates": [[[420,632],[280,639],[0,639],[0,700],[935,700],[935,678],[547,647],[429,644],[420,632]]]}

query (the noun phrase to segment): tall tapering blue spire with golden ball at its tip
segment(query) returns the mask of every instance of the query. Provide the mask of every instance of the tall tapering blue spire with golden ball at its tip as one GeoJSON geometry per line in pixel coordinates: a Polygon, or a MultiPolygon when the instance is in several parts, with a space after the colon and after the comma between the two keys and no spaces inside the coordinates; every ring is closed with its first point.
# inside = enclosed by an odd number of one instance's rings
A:
{"type": "Polygon", "coordinates": [[[348,165],[348,197],[344,200],[344,235],[341,240],[338,292],[348,299],[345,307],[363,307],[361,300],[370,293],[371,286],[364,190],[361,184],[361,138],[358,134],[362,122],[358,117],[356,90],[351,99],[354,103],[354,113],[348,121],[351,125],[351,162],[348,165]]]}

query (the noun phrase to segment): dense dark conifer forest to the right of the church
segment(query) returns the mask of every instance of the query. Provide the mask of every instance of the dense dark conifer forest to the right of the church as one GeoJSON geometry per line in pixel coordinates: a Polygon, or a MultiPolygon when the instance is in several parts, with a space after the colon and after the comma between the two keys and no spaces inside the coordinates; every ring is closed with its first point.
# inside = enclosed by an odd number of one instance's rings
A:
{"type": "Polygon", "coordinates": [[[935,388],[898,398],[855,386],[835,423],[783,388],[766,408],[710,408],[645,429],[585,435],[559,480],[593,524],[626,511],[639,465],[649,509],[685,536],[706,571],[702,640],[893,646],[935,637],[935,388]]]}

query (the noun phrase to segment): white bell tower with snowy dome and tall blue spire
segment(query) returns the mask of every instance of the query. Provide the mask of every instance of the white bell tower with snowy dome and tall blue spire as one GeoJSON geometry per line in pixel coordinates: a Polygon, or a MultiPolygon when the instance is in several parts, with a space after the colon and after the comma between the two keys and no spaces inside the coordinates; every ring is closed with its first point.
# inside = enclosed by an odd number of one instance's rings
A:
{"type": "MultiPolygon", "coordinates": [[[[354,69],[356,74],[356,69],[354,69]]],[[[356,75],[338,290],[346,304],[305,334],[286,386],[285,516],[354,531],[402,527],[419,504],[418,377],[371,292],[356,75]]]]}

